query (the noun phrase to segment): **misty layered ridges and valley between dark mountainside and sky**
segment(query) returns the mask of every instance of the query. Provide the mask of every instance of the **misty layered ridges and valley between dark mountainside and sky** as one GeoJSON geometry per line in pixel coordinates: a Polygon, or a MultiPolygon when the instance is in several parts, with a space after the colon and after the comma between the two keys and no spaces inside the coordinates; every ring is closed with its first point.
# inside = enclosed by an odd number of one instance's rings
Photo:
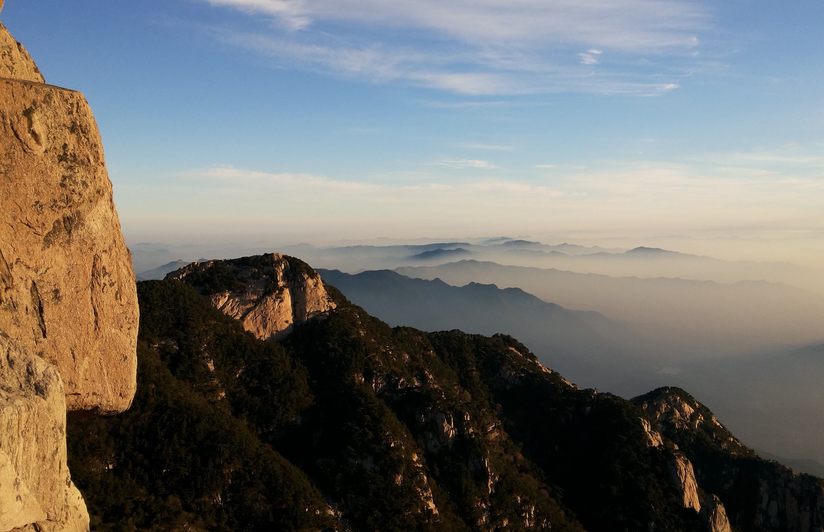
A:
{"type": "Polygon", "coordinates": [[[511,334],[578,385],[625,397],[678,385],[750,446],[824,462],[821,242],[804,240],[797,253],[758,239],[584,244],[496,237],[131,250],[138,279],[194,261],[293,255],[389,324],[511,334]]]}

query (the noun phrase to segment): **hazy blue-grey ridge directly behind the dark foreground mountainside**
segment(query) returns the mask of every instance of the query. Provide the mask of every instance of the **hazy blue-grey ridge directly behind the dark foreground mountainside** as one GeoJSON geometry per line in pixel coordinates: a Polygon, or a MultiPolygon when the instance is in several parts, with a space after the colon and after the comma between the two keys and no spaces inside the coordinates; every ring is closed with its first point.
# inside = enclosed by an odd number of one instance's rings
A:
{"type": "Polygon", "coordinates": [[[391,325],[416,329],[461,329],[466,333],[510,334],[527,344],[541,362],[578,384],[610,390],[634,388],[643,368],[636,361],[639,335],[627,324],[597,312],[568,310],[523,292],[470,282],[454,287],[440,279],[408,278],[390,270],[352,275],[317,270],[325,282],[371,315],[391,325]],[[627,384],[631,383],[631,384],[627,384]]]}

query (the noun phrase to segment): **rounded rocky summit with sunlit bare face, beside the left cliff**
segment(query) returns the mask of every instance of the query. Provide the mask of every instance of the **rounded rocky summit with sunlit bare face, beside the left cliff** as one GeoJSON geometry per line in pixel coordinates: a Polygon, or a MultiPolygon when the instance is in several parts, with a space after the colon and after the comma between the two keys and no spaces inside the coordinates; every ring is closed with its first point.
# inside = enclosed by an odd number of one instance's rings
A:
{"type": "Polygon", "coordinates": [[[261,340],[282,338],[335,308],[315,270],[279,253],[192,263],[166,278],[190,283],[261,340]]]}

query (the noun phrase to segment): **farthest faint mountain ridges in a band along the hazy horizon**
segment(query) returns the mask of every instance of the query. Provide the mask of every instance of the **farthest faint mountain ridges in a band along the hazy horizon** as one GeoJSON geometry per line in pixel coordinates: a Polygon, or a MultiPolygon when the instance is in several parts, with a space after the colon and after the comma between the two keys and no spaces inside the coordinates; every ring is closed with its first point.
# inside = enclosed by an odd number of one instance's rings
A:
{"type": "MultiPolygon", "coordinates": [[[[402,266],[437,266],[457,259],[476,259],[513,266],[558,268],[577,273],[601,273],[611,277],[683,278],[700,281],[784,282],[824,295],[824,269],[808,268],[789,262],[722,260],[679,253],[657,247],[634,249],[602,248],[564,242],[547,245],[533,240],[494,238],[487,240],[444,240],[425,244],[344,245],[318,247],[309,244],[261,245],[218,248],[204,245],[135,245],[135,272],[143,273],[171,259],[188,261],[197,257],[227,258],[240,254],[277,251],[307,259],[318,268],[339,269],[348,273],[363,270],[395,269],[402,266]]],[[[154,277],[157,277],[156,275],[154,277]]]]}

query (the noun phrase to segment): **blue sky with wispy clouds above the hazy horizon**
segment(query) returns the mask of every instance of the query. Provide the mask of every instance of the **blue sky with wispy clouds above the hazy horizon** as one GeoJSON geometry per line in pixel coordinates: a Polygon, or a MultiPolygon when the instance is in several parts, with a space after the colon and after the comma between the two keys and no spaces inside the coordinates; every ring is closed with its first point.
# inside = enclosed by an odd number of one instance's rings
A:
{"type": "Polygon", "coordinates": [[[824,231],[824,3],[7,0],[133,239],[824,231]]]}

